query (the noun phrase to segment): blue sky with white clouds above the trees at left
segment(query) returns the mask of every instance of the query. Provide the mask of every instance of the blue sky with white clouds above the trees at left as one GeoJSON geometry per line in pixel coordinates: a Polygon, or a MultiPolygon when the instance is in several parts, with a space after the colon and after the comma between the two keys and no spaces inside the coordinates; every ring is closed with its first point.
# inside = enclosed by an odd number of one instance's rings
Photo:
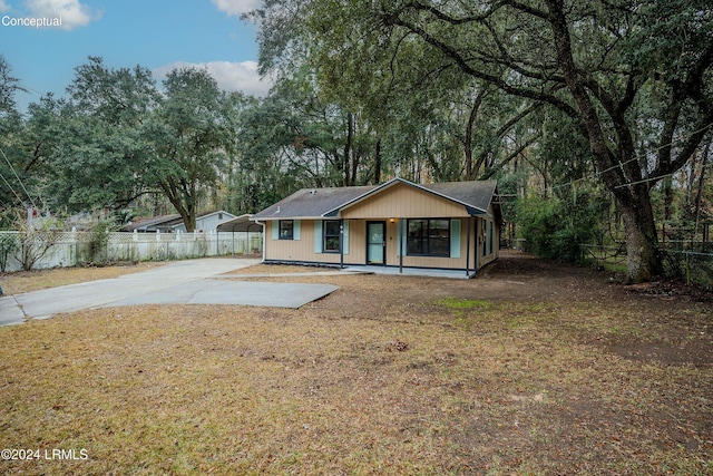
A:
{"type": "Polygon", "coordinates": [[[180,66],[205,67],[226,90],[265,95],[256,72],[256,27],[240,14],[261,0],[0,0],[0,54],[30,90],[20,109],[48,91],[65,96],[88,56],[109,67],[140,65],[160,80],[180,66]],[[23,26],[40,20],[60,27],[23,26]]]}

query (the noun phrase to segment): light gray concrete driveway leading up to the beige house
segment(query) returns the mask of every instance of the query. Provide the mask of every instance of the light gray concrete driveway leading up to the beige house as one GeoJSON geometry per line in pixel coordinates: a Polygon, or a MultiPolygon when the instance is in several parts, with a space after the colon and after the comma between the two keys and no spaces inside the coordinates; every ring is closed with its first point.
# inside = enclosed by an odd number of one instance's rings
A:
{"type": "Polygon", "coordinates": [[[47,319],[60,312],[139,304],[240,304],[300,308],[335,290],[330,284],[228,281],[217,275],[260,260],[207,258],[109,280],[0,298],[0,326],[47,319]]]}

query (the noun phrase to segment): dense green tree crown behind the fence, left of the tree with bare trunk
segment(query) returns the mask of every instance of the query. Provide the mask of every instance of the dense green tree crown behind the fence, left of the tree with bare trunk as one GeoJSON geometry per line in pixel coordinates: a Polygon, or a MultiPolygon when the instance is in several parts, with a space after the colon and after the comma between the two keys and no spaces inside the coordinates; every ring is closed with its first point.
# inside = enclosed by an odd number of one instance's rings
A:
{"type": "Polygon", "coordinates": [[[70,213],[123,207],[153,177],[141,135],[160,100],[152,72],[113,69],[90,57],[75,68],[68,93],[67,101],[48,96],[29,109],[29,142],[40,152],[33,166],[49,169],[50,204],[70,213]]]}

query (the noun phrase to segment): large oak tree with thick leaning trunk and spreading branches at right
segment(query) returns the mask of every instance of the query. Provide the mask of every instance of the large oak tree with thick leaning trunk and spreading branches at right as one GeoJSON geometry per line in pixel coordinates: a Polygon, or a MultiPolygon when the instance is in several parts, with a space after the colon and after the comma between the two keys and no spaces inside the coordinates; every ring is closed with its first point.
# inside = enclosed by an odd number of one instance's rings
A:
{"type": "MultiPolygon", "coordinates": [[[[326,88],[412,81],[408,52],[416,76],[456,69],[559,109],[588,140],[615,197],[629,281],[662,271],[651,192],[711,135],[710,1],[268,0],[256,17],[263,49],[305,55],[326,88]],[[283,29],[266,32],[275,19],[283,29]]],[[[264,64],[290,65],[274,57],[264,64]]]]}

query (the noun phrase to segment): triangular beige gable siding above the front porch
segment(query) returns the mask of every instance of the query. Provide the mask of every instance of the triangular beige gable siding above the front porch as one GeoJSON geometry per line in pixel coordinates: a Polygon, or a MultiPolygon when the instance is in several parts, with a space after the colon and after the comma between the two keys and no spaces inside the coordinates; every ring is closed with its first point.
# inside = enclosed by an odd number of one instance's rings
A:
{"type": "Polygon", "coordinates": [[[344,218],[442,218],[468,216],[463,205],[406,184],[395,184],[342,210],[344,218]]]}

